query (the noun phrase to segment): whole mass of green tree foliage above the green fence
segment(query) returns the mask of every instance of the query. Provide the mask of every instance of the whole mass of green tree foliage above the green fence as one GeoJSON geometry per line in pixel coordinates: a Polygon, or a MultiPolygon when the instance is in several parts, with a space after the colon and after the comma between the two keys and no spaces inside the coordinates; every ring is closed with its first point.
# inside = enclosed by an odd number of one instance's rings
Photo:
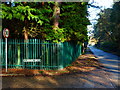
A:
{"type": "Polygon", "coordinates": [[[3,28],[9,28],[11,38],[46,39],[53,42],[87,40],[86,2],[62,2],[58,28],[54,30],[55,2],[15,2],[15,6],[2,3],[3,28]],[[9,22],[9,23],[6,23],[9,22]]]}

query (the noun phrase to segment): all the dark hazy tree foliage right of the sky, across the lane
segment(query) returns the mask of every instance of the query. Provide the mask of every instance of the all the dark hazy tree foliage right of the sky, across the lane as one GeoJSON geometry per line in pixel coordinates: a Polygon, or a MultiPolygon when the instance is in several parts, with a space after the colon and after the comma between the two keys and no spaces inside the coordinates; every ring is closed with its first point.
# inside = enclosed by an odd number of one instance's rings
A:
{"type": "Polygon", "coordinates": [[[95,25],[95,38],[100,43],[114,43],[120,49],[120,2],[116,2],[112,9],[106,9],[100,14],[95,25]]]}

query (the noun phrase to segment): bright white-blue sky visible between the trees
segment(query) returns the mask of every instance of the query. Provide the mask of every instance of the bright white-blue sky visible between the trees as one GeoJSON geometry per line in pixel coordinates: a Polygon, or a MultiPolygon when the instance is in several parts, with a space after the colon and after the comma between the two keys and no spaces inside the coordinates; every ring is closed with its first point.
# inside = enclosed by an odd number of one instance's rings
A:
{"type": "MultiPolygon", "coordinates": [[[[113,5],[113,0],[90,0],[89,3],[93,1],[94,1],[93,5],[100,6],[102,10],[106,8],[112,8],[112,5],[113,5]]],[[[94,30],[93,25],[97,22],[97,20],[95,19],[99,18],[97,14],[100,12],[100,9],[90,7],[88,8],[88,12],[89,12],[89,20],[92,23],[92,25],[88,26],[88,31],[89,31],[89,30],[94,30]]],[[[91,34],[88,34],[88,35],[91,35],[91,34]]]]}

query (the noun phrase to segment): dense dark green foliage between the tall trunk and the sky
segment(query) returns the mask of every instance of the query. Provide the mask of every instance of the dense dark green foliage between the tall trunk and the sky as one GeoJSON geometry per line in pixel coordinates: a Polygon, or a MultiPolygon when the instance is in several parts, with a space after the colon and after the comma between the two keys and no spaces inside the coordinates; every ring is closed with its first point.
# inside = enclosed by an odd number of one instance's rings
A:
{"type": "Polygon", "coordinates": [[[61,5],[61,27],[67,40],[84,42],[87,40],[87,25],[90,24],[86,3],[63,3],[61,5]]]}

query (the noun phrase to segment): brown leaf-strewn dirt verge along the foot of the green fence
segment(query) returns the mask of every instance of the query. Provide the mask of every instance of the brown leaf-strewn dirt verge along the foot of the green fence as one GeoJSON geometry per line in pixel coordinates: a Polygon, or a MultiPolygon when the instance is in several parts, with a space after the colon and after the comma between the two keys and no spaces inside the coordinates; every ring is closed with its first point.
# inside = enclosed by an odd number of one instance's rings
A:
{"type": "Polygon", "coordinates": [[[74,61],[71,65],[65,67],[62,70],[8,69],[8,72],[5,72],[5,69],[2,69],[2,74],[24,74],[25,76],[52,76],[90,72],[99,68],[101,68],[101,64],[98,62],[97,58],[92,54],[92,52],[89,49],[87,49],[86,54],[80,55],[76,61],[74,61]]]}

